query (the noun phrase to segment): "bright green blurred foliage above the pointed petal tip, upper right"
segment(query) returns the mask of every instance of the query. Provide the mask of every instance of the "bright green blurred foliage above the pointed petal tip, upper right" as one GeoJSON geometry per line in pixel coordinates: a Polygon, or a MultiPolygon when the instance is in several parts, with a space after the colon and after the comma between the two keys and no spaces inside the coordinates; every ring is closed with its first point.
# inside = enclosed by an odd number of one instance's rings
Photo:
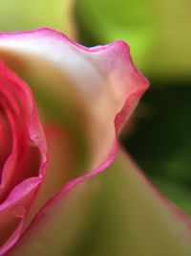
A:
{"type": "Polygon", "coordinates": [[[190,78],[191,1],[78,0],[77,19],[85,44],[123,39],[148,76],[190,78]]]}

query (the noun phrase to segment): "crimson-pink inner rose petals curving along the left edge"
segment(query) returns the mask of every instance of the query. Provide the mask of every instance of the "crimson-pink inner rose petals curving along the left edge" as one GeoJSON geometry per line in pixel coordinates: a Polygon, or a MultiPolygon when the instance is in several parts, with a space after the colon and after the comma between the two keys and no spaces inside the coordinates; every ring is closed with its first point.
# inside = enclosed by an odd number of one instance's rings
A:
{"type": "Polygon", "coordinates": [[[47,152],[32,92],[3,62],[0,62],[0,94],[0,105],[11,116],[13,133],[13,146],[4,163],[0,184],[0,229],[3,230],[0,255],[4,255],[21,235],[45,175],[47,152]]]}

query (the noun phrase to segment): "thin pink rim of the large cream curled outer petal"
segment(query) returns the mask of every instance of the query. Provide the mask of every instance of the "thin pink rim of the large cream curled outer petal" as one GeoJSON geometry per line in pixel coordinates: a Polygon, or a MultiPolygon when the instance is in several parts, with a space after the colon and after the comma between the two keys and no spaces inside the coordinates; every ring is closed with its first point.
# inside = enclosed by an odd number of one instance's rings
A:
{"type": "MultiPolygon", "coordinates": [[[[96,47],[93,47],[93,48],[87,48],[87,47],[84,47],[84,46],[81,46],[81,45],[75,43],[74,41],[69,39],[66,35],[63,35],[59,32],[55,32],[55,31],[53,31],[51,29],[47,29],[47,28],[46,29],[39,29],[39,30],[32,31],[32,32],[19,32],[19,33],[12,33],[12,34],[3,33],[3,34],[0,34],[0,38],[1,37],[10,37],[11,38],[11,36],[15,36],[15,35],[16,36],[19,35],[19,36],[23,36],[23,37],[25,37],[26,35],[51,36],[54,39],[65,40],[69,44],[74,45],[74,47],[76,47],[76,48],[78,48],[78,49],[80,49],[84,52],[87,52],[87,53],[99,53],[100,52],[102,54],[107,55],[109,58],[110,58],[110,55],[111,56],[117,55],[117,58],[125,58],[127,66],[131,67],[131,72],[132,72],[133,78],[135,79],[136,82],[139,83],[138,84],[139,86],[136,87],[135,90],[130,95],[127,96],[122,109],[116,115],[116,118],[115,118],[115,121],[114,121],[114,126],[115,126],[115,130],[116,130],[116,139],[114,141],[113,148],[108,153],[108,156],[106,157],[106,159],[102,163],[100,163],[100,165],[97,166],[96,169],[93,170],[88,175],[82,175],[82,176],[79,176],[79,177],[67,182],[63,186],[61,191],[58,192],[53,198],[51,198],[42,207],[42,209],[39,211],[39,213],[36,215],[36,217],[32,221],[31,225],[33,225],[33,224],[36,223],[36,221],[38,221],[40,219],[40,217],[43,215],[43,212],[47,211],[47,208],[52,207],[53,202],[55,200],[63,197],[64,195],[66,195],[79,182],[82,182],[83,180],[85,180],[87,178],[90,178],[90,177],[92,177],[94,175],[97,175],[98,173],[102,172],[104,169],[106,169],[113,162],[113,160],[114,160],[114,158],[117,154],[117,150],[118,150],[118,141],[117,141],[118,132],[120,131],[120,129],[122,128],[124,123],[127,121],[127,119],[130,117],[134,108],[138,105],[139,99],[141,98],[141,96],[143,95],[143,93],[145,92],[145,90],[149,86],[149,81],[147,81],[138,72],[137,68],[134,66],[134,63],[132,61],[129,46],[121,40],[115,41],[115,42],[113,42],[111,44],[108,44],[108,45],[96,46],[96,47]]],[[[27,230],[24,234],[27,233],[27,230]]]]}

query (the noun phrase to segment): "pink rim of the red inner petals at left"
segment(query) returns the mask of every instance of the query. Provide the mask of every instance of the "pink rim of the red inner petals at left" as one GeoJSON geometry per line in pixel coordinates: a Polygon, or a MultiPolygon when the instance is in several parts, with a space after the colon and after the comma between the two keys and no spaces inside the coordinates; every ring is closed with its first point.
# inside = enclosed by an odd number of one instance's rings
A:
{"type": "MultiPolygon", "coordinates": [[[[1,63],[1,65],[4,65],[1,63]]],[[[31,197],[31,202],[27,203],[27,208],[24,207],[23,215],[20,218],[19,224],[17,225],[15,231],[11,235],[10,239],[0,248],[0,256],[4,255],[13,244],[19,239],[22,231],[23,224],[25,219],[27,218],[28,211],[32,206],[32,201],[35,198],[37,190],[39,189],[40,184],[43,181],[43,176],[45,175],[46,165],[47,165],[47,146],[46,146],[46,139],[41,127],[41,124],[38,119],[36,107],[34,100],[32,98],[32,91],[30,87],[22,81],[17,75],[15,75],[8,67],[4,65],[4,68],[7,69],[9,75],[11,75],[11,80],[15,81],[18,86],[21,86],[23,91],[26,94],[28,99],[28,104],[31,107],[30,117],[31,117],[31,124],[29,127],[30,131],[30,138],[32,143],[39,149],[41,152],[41,164],[39,168],[39,176],[30,177],[26,180],[22,181],[20,184],[14,187],[11,191],[8,198],[5,199],[3,203],[0,205],[0,212],[11,211],[14,209],[15,206],[19,205],[22,206],[22,203],[25,201],[27,197],[31,197]]]]}

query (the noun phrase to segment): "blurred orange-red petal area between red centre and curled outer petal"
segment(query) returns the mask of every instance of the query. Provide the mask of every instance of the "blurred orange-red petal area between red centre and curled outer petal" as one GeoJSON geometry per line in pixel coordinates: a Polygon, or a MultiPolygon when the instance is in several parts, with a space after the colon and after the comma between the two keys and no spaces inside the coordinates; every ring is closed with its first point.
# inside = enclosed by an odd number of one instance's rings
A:
{"type": "Polygon", "coordinates": [[[68,133],[64,128],[50,125],[45,128],[49,163],[38,194],[33,201],[23,230],[31,223],[39,209],[52,198],[63,184],[71,178],[74,170],[74,154],[68,133]]]}

